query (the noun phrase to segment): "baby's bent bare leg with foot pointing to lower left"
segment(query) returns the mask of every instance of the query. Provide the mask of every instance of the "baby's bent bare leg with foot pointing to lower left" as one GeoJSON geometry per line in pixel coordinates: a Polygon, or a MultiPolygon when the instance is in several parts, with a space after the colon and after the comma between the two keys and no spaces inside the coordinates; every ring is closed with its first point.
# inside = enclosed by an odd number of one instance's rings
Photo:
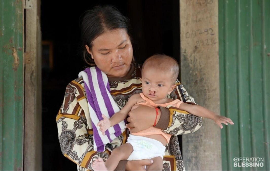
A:
{"type": "Polygon", "coordinates": [[[130,143],[123,144],[112,151],[105,163],[101,158],[95,160],[92,164],[92,168],[94,170],[114,170],[120,160],[128,159],[132,152],[133,147],[130,143]]]}

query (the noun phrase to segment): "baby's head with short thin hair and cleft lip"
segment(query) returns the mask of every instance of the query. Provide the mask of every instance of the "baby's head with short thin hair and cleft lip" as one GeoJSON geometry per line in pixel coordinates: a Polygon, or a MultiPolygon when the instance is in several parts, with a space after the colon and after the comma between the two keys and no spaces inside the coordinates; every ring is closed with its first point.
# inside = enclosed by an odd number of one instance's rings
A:
{"type": "Polygon", "coordinates": [[[167,98],[176,87],[178,74],[179,65],[174,58],[164,54],[149,57],[141,69],[143,94],[153,101],[167,98]]]}

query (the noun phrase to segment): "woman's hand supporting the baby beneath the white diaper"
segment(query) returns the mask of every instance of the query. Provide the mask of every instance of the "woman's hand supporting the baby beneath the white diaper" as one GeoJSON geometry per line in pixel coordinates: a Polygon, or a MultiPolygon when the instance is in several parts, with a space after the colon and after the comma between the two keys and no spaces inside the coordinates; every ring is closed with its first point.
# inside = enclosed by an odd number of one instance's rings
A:
{"type": "Polygon", "coordinates": [[[146,170],[144,166],[151,165],[153,160],[143,159],[143,160],[130,160],[127,161],[126,170],[146,170]]]}

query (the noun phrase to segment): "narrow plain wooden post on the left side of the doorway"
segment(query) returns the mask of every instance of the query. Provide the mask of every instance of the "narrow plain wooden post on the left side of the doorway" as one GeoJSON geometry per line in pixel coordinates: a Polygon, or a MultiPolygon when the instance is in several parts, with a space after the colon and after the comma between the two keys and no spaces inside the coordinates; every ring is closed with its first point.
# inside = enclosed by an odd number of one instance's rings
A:
{"type": "Polygon", "coordinates": [[[24,170],[42,170],[40,0],[31,2],[25,14],[24,170]]]}

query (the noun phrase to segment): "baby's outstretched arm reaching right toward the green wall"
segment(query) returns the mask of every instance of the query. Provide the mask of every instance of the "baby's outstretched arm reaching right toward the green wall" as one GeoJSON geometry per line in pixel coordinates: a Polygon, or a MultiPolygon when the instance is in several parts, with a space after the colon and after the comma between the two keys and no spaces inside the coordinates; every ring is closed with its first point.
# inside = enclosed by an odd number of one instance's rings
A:
{"type": "Polygon", "coordinates": [[[228,125],[231,124],[233,125],[234,122],[232,122],[232,120],[230,118],[224,117],[224,116],[220,116],[215,114],[214,112],[201,107],[199,105],[192,105],[192,104],[187,104],[187,103],[181,103],[179,106],[180,110],[184,110],[187,111],[189,113],[192,113],[193,115],[199,116],[199,117],[204,117],[204,118],[209,118],[215,121],[215,123],[220,126],[220,128],[222,128],[223,126],[221,125],[221,123],[228,125]],[[228,122],[228,123],[227,123],[228,122]]]}

